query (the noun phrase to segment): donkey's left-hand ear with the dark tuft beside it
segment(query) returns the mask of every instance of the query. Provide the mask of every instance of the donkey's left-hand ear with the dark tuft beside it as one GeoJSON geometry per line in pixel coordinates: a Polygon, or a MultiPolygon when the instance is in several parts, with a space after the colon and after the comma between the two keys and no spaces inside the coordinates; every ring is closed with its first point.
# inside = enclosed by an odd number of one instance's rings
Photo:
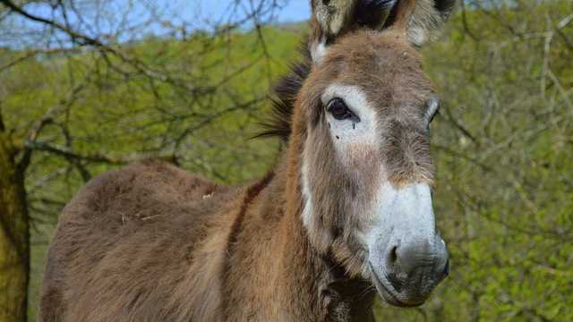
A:
{"type": "Polygon", "coordinates": [[[312,0],[309,48],[316,63],[336,38],[359,28],[380,30],[397,0],[312,0]]]}

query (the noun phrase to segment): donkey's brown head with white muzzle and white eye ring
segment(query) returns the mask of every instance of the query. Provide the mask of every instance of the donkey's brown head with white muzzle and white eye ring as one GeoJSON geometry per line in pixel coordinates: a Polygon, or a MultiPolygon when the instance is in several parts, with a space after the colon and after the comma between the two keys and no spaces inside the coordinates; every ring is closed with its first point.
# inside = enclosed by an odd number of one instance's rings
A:
{"type": "MultiPolygon", "coordinates": [[[[439,104],[412,46],[415,5],[399,0],[387,29],[346,32],[314,52],[293,118],[313,245],[399,306],[423,303],[449,270],[432,210],[429,125],[439,104]]],[[[325,22],[328,32],[346,19],[325,22]]]]}

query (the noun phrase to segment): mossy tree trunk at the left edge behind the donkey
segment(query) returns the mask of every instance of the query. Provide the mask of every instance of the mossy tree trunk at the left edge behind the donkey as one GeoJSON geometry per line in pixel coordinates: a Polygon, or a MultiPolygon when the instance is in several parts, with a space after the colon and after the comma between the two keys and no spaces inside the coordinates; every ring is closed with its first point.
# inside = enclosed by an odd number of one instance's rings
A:
{"type": "MultiPolygon", "coordinates": [[[[1,129],[0,129],[1,130],[1,129]]],[[[23,169],[0,131],[0,321],[27,320],[30,232],[23,169]]]]}

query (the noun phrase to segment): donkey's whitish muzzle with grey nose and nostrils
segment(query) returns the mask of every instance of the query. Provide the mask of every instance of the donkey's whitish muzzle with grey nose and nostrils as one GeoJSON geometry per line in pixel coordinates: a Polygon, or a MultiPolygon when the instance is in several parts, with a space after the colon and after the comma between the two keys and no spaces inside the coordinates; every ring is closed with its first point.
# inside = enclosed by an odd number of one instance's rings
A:
{"type": "Polygon", "coordinates": [[[436,232],[425,184],[381,191],[380,220],[369,233],[372,283],[390,304],[417,306],[449,274],[446,243],[436,232]]]}

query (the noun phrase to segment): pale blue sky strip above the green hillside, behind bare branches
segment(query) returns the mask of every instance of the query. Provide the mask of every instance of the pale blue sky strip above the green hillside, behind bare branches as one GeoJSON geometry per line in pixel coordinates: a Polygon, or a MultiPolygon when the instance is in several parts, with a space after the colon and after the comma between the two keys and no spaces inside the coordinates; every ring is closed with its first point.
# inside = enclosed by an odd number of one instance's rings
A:
{"type": "MultiPolygon", "coordinates": [[[[278,9],[272,12],[262,10],[264,14],[259,21],[262,23],[306,21],[311,16],[310,0],[75,0],[73,9],[67,7],[66,19],[74,30],[83,34],[115,35],[119,41],[124,41],[131,38],[130,30],[139,36],[161,36],[173,28],[180,30],[182,26],[187,32],[216,30],[220,25],[242,21],[261,3],[278,4],[278,9]],[[124,21],[129,22],[123,25],[124,21]],[[119,35],[114,33],[115,30],[124,31],[119,35]]],[[[64,16],[57,10],[55,12],[47,2],[27,4],[23,9],[32,15],[65,24],[64,16]]],[[[0,26],[0,46],[32,46],[51,32],[43,23],[19,15],[13,17],[0,26]],[[25,43],[22,43],[23,39],[26,39],[25,43]]],[[[254,21],[248,20],[239,26],[250,30],[253,25],[254,21]]],[[[68,38],[57,31],[52,36],[49,41],[59,42],[58,46],[68,38]]],[[[51,47],[49,44],[46,46],[51,47]]]]}

